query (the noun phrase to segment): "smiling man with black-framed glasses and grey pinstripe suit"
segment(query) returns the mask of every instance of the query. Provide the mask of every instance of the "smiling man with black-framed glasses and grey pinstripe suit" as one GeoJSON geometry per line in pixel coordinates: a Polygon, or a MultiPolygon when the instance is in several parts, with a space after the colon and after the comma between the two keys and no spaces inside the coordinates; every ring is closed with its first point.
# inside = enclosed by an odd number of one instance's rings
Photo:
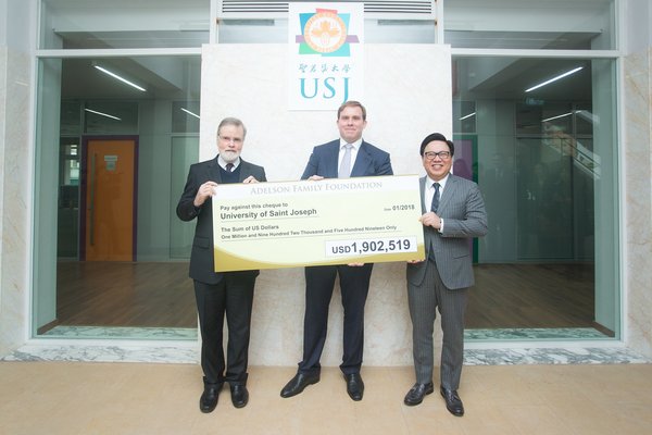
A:
{"type": "Polygon", "coordinates": [[[464,311],[474,284],[468,239],[487,234],[487,212],[478,186],[450,173],[455,147],[432,133],[423,140],[421,156],[427,175],[421,178],[426,260],[408,264],[408,302],[416,383],[404,402],[418,405],[434,391],[432,332],[441,314],[440,393],[447,409],[464,415],[457,394],[464,361],[464,311]]]}

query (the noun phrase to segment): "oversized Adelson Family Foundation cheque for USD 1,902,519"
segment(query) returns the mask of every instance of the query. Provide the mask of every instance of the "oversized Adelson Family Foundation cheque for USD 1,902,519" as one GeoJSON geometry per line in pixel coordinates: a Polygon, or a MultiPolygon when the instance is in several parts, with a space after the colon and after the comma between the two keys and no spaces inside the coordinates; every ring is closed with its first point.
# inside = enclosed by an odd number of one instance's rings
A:
{"type": "Polygon", "coordinates": [[[417,175],[218,185],[215,271],[423,260],[421,200],[417,175]]]}

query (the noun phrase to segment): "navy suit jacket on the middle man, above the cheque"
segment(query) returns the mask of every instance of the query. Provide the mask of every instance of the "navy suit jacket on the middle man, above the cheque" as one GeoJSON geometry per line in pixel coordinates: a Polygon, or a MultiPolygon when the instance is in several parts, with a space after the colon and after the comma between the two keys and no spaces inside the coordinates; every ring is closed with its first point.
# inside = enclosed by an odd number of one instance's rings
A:
{"type": "MultiPolygon", "coordinates": [[[[339,139],[337,139],[316,146],[310,156],[301,179],[306,179],[312,175],[337,178],[339,145],[339,139]]],[[[389,153],[363,140],[358,150],[355,163],[351,169],[351,176],[372,175],[393,175],[389,153]]]]}

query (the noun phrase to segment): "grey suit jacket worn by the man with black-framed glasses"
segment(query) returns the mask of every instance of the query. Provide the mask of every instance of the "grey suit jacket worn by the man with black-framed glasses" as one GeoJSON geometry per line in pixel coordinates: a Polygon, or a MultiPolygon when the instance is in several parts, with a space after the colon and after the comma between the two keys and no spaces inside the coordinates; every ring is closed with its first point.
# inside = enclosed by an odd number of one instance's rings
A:
{"type": "MultiPolygon", "coordinates": [[[[419,179],[422,211],[427,177],[419,179]]],[[[478,185],[468,179],[449,175],[439,200],[437,215],[443,220],[443,233],[424,226],[426,261],[408,264],[408,282],[421,285],[426,274],[428,254],[435,251],[437,270],[449,289],[466,288],[474,284],[473,258],[468,239],[487,234],[487,212],[478,185]]]]}

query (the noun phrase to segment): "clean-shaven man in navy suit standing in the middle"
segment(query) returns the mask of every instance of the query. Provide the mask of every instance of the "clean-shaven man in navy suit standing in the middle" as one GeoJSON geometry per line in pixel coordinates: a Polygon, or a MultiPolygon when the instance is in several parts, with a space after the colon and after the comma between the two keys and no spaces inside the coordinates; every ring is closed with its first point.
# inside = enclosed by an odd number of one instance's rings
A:
{"type": "MultiPolygon", "coordinates": [[[[340,138],[313,149],[301,179],[392,175],[389,153],[362,139],[366,110],[358,101],[344,102],[337,112],[340,138]]],[[[342,206],[342,212],[343,208],[342,206]]],[[[328,306],[336,276],[344,309],[343,357],[340,370],[351,399],[362,400],[364,383],[360,375],[364,341],[364,304],[373,264],[341,264],[305,268],[305,316],[303,320],[303,360],[297,375],[281,389],[292,397],[319,381],[322,350],[326,340],[328,306]]]]}

